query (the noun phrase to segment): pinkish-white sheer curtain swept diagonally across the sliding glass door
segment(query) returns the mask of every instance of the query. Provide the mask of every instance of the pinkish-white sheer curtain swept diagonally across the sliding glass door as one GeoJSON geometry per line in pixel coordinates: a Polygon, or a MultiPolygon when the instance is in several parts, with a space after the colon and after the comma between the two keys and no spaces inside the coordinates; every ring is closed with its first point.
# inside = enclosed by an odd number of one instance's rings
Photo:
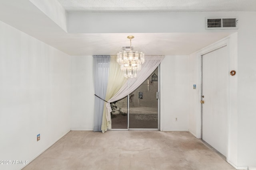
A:
{"type": "MultiPolygon", "coordinates": [[[[124,83],[124,85],[116,92],[116,94],[112,94],[112,97],[107,100],[108,103],[106,104],[105,111],[106,117],[103,116],[104,121],[108,122],[107,126],[103,126],[102,132],[106,131],[108,127],[111,127],[111,119],[110,119],[110,112],[111,112],[111,107],[110,107],[110,102],[115,102],[117,100],[120,100],[133,92],[142,82],[150,76],[150,74],[157,68],[157,66],[162,62],[164,59],[164,56],[147,56],[145,57],[145,62],[141,67],[141,70],[137,72],[137,77],[136,78],[130,78],[124,83]]],[[[111,61],[112,63],[113,61],[111,61]]],[[[121,70],[117,70],[117,72],[122,73],[122,76],[124,76],[123,72],[121,70]]],[[[118,79],[114,80],[119,81],[118,79]]],[[[102,121],[103,123],[103,121],[102,121]]]]}

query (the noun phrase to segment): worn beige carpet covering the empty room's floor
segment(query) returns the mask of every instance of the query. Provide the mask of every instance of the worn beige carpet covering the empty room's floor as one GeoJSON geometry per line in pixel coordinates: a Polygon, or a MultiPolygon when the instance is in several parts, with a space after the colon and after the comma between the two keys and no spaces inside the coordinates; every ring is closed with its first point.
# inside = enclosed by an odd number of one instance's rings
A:
{"type": "Polygon", "coordinates": [[[234,170],[189,132],[70,131],[23,170],[234,170]]]}

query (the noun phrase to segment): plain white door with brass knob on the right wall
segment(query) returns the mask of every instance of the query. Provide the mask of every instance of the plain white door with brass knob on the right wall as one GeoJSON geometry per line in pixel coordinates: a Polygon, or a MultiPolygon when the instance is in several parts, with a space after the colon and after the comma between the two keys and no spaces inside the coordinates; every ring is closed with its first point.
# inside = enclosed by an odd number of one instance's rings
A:
{"type": "Polygon", "coordinates": [[[228,47],[202,55],[202,139],[226,156],[228,47]]]}

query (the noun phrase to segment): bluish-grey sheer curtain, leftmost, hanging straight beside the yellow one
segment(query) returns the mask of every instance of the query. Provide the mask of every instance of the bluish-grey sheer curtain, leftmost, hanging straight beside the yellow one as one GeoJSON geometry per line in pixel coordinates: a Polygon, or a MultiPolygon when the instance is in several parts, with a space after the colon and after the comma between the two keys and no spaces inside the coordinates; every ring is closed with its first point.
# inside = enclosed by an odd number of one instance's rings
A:
{"type": "MultiPolygon", "coordinates": [[[[106,97],[108,85],[108,72],[110,56],[93,56],[94,92],[102,99],[106,97]]],[[[101,131],[104,100],[94,97],[94,128],[93,131],[101,131]]],[[[104,116],[105,118],[106,116],[104,116]]]]}

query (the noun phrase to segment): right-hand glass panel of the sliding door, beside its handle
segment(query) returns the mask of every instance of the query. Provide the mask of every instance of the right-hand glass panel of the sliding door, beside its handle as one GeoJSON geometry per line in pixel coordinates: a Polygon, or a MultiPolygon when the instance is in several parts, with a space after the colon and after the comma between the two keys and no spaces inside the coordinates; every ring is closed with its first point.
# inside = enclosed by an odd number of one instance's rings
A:
{"type": "Polygon", "coordinates": [[[129,129],[158,129],[157,75],[158,68],[129,94],[129,129]]]}

